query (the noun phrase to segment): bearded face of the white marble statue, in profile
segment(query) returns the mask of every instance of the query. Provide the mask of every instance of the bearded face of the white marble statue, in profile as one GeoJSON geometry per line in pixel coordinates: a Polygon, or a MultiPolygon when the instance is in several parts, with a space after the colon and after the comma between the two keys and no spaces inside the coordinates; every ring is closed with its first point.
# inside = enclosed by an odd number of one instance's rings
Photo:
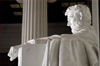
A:
{"type": "Polygon", "coordinates": [[[84,22],[82,22],[81,17],[80,12],[75,12],[73,10],[69,11],[67,15],[67,26],[70,26],[72,29],[82,27],[84,22]]]}

